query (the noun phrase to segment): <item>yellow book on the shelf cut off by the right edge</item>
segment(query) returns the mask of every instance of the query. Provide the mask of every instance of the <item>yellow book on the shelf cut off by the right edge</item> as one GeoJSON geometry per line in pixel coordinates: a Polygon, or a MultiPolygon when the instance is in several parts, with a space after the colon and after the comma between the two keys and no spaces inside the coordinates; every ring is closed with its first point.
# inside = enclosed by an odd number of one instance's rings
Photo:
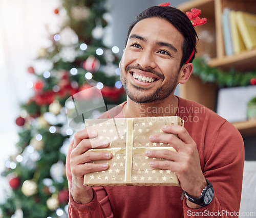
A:
{"type": "Polygon", "coordinates": [[[246,49],[256,47],[256,14],[237,11],[237,23],[246,49]]]}

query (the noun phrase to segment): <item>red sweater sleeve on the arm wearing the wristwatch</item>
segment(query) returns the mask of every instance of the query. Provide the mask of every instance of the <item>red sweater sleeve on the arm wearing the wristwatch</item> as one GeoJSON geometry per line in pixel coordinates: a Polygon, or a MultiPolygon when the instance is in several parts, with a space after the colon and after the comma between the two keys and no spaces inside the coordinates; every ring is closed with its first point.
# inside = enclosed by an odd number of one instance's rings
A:
{"type": "Polygon", "coordinates": [[[238,217],[244,166],[241,134],[225,122],[204,157],[203,174],[212,183],[215,196],[210,204],[199,209],[189,208],[184,198],[184,217],[238,217]]]}

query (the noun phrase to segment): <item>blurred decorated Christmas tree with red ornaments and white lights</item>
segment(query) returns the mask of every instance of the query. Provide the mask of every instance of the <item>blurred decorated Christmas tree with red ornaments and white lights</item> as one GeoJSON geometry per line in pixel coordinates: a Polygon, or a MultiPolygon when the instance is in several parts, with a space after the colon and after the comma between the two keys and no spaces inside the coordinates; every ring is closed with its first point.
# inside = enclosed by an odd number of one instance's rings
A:
{"type": "Polygon", "coordinates": [[[37,72],[28,66],[36,81],[30,84],[33,96],[21,106],[16,119],[18,153],[6,162],[2,173],[11,187],[1,205],[3,217],[67,217],[65,160],[75,132],[67,120],[66,113],[75,118],[67,100],[76,93],[83,93],[80,101],[95,100],[92,87],[100,90],[106,105],[125,98],[119,79],[119,49],[106,47],[102,40],[108,24],[105,0],[63,0],[52,13],[59,16],[60,12],[67,19],[58,33],[49,35],[52,45],[42,48],[38,56],[49,60],[51,67],[37,72]]]}

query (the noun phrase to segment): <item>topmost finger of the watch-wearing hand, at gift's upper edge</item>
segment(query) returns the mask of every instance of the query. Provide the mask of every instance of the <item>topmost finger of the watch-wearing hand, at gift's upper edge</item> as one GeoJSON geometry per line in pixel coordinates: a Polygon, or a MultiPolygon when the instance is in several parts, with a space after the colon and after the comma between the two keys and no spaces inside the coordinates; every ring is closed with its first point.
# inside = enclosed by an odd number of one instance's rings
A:
{"type": "Polygon", "coordinates": [[[172,133],[178,135],[178,137],[184,141],[186,144],[194,143],[193,138],[189,135],[187,130],[184,127],[174,126],[174,125],[165,125],[161,128],[163,132],[172,133]]]}

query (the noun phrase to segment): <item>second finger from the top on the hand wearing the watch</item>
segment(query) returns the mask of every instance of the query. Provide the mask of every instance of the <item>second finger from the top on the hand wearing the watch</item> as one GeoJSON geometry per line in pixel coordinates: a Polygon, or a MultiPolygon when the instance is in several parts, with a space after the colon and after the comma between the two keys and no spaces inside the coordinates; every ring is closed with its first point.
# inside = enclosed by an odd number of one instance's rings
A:
{"type": "Polygon", "coordinates": [[[170,146],[174,147],[177,151],[184,147],[184,142],[174,134],[151,135],[150,141],[170,144],[170,146]]]}

